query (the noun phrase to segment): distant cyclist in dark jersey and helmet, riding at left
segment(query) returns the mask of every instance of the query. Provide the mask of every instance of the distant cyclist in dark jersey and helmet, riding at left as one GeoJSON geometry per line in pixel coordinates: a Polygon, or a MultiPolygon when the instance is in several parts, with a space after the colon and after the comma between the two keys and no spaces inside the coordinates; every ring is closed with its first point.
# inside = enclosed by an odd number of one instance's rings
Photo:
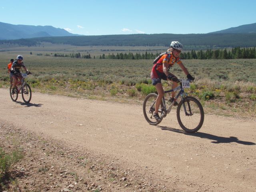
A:
{"type": "Polygon", "coordinates": [[[13,78],[13,87],[17,85],[18,79],[22,79],[22,76],[20,75],[20,69],[24,68],[27,74],[30,74],[30,72],[27,70],[26,66],[22,62],[23,57],[21,55],[18,55],[16,60],[12,63],[11,67],[11,73],[13,78]]]}

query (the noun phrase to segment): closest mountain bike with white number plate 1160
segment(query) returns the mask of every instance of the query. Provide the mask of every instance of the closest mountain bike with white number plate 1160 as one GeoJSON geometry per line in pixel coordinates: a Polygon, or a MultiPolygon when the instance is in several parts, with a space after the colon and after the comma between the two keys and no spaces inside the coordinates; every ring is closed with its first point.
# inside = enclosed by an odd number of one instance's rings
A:
{"type": "Polygon", "coordinates": [[[146,121],[151,125],[158,125],[167,114],[170,113],[172,107],[174,106],[175,101],[180,97],[180,102],[177,106],[177,119],[180,127],[189,133],[197,132],[203,125],[204,122],[204,109],[201,103],[194,97],[187,96],[184,88],[190,88],[190,80],[179,79],[178,83],[180,86],[164,91],[164,95],[170,92],[178,92],[174,101],[170,103],[169,106],[166,106],[166,101],[163,96],[161,104],[158,109],[160,113],[160,120],[157,121],[153,117],[155,111],[156,97],[158,96],[155,93],[150,93],[146,96],[143,102],[143,114],[146,121]]]}

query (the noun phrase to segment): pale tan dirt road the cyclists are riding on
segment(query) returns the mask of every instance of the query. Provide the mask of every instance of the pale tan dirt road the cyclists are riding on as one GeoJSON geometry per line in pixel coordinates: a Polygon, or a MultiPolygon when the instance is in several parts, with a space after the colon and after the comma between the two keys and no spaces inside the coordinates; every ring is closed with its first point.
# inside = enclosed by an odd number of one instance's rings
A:
{"type": "Polygon", "coordinates": [[[195,134],[172,112],[159,126],[142,106],[33,93],[12,102],[0,89],[0,120],[70,146],[94,151],[124,168],[184,191],[256,191],[256,121],[206,114],[195,134]]]}

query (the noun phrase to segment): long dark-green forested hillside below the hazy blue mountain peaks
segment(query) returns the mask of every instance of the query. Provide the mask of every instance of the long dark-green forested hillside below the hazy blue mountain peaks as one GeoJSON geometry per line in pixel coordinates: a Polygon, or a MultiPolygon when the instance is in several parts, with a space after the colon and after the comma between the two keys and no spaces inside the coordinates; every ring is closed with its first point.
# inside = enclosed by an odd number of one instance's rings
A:
{"type": "Polygon", "coordinates": [[[101,36],[42,37],[19,40],[1,40],[0,44],[36,46],[41,42],[70,44],[73,46],[169,46],[171,41],[180,41],[186,50],[208,48],[254,47],[256,33],[251,34],[131,34],[101,36]]]}

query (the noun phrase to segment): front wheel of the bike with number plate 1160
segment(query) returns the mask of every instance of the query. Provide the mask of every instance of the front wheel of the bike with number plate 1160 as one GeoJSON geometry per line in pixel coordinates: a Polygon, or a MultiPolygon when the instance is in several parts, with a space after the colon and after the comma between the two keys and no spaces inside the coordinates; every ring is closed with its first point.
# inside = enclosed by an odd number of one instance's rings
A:
{"type": "Polygon", "coordinates": [[[201,103],[194,97],[186,97],[178,104],[177,119],[184,131],[197,132],[204,123],[204,110],[201,103]]]}

